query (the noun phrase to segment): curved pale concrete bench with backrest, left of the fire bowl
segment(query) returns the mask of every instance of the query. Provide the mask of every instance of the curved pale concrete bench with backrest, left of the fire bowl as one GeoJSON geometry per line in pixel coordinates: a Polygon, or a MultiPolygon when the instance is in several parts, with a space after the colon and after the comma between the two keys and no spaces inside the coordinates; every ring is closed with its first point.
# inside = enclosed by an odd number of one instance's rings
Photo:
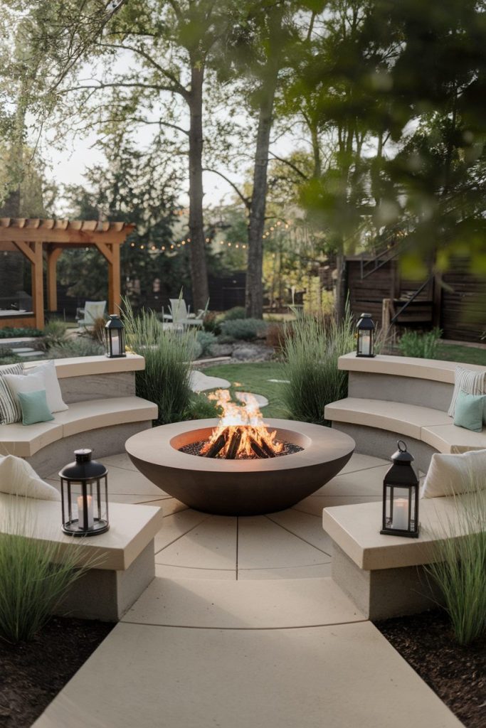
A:
{"type": "Polygon", "coordinates": [[[135,371],[144,369],[144,357],[77,357],[55,366],[68,410],[52,422],[0,425],[0,454],[24,457],[47,477],[71,462],[77,448],[92,448],[95,457],[116,454],[131,435],[152,427],[157,405],[135,395],[135,371]]]}

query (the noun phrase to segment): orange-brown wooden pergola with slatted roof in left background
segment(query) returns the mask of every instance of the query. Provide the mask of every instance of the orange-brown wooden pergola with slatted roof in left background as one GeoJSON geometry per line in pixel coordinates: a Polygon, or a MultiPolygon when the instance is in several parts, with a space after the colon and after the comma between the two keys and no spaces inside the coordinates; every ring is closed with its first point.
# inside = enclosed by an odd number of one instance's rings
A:
{"type": "MultiPolygon", "coordinates": [[[[56,264],[63,250],[95,245],[108,261],[109,313],[119,310],[121,303],[119,247],[134,225],[97,220],[41,220],[39,218],[0,218],[0,251],[16,251],[25,256],[32,267],[32,300],[34,315],[4,320],[5,325],[26,325],[44,328],[44,254],[47,272],[47,310],[57,311],[58,292],[56,264]],[[21,322],[21,323],[20,323],[21,322]]],[[[86,273],[89,275],[89,272],[86,273]]],[[[1,325],[1,323],[0,323],[1,325]]]]}

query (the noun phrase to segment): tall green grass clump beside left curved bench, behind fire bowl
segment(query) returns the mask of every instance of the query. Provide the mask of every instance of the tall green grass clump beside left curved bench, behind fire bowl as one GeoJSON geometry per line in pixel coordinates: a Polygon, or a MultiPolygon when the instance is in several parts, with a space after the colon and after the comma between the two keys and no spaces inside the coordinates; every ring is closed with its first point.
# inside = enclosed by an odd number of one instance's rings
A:
{"type": "Polygon", "coordinates": [[[156,424],[179,422],[191,399],[191,359],[195,351],[195,331],[166,331],[157,314],[142,311],[135,316],[124,301],[125,334],[130,349],[145,357],[144,371],[136,373],[136,393],[157,404],[156,424]]]}

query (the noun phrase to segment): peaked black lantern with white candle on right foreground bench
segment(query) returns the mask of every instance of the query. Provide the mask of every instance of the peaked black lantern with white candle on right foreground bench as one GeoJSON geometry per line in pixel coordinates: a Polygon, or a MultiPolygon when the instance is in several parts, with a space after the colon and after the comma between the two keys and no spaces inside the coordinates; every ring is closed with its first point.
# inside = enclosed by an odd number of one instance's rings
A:
{"type": "Polygon", "coordinates": [[[413,457],[399,440],[383,480],[383,528],[380,534],[418,538],[418,477],[413,457]]]}

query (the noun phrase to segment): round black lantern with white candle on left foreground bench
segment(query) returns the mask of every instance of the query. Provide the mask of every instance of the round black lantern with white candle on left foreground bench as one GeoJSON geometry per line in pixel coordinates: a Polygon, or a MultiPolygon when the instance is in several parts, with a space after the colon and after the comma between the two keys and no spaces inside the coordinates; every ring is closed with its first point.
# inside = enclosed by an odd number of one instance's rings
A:
{"type": "Polygon", "coordinates": [[[75,462],[60,471],[63,531],[68,536],[96,536],[109,529],[107,470],[91,459],[88,448],[75,450],[75,462]]]}

